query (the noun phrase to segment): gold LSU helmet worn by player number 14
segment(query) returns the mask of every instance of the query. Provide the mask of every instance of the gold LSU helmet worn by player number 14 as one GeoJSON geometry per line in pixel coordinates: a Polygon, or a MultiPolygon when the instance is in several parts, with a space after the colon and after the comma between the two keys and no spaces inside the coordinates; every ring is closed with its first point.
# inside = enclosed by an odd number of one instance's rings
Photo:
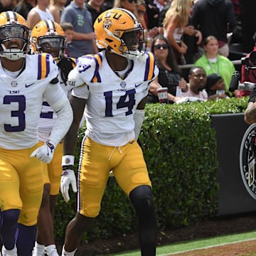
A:
{"type": "Polygon", "coordinates": [[[125,58],[144,55],[142,24],[132,12],[114,8],[97,16],[94,23],[97,48],[105,48],[125,58]]]}

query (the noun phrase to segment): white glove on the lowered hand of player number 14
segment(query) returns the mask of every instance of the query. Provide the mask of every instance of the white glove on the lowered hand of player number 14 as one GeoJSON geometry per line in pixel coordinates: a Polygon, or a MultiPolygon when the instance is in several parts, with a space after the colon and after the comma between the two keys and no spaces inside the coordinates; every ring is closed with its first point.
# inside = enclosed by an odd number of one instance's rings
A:
{"type": "Polygon", "coordinates": [[[63,174],[61,174],[61,181],[60,181],[60,192],[62,193],[66,203],[68,203],[68,201],[70,200],[70,197],[68,194],[70,183],[71,183],[73,192],[76,193],[78,191],[78,188],[76,184],[74,171],[71,169],[67,169],[63,171],[63,174]]]}

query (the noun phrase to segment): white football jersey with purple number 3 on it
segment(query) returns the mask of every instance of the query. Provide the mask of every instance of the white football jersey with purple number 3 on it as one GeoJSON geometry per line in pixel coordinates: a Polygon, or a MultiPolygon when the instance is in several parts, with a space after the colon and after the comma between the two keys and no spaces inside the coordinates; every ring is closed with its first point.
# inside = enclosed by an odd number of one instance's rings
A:
{"type": "MultiPolygon", "coordinates": [[[[38,142],[38,119],[43,99],[54,108],[65,94],[59,83],[58,66],[47,53],[26,55],[26,66],[11,78],[0,65],[0,147],[28,149],[38,142]]],[[[57,111],[57,110],[56,110],[57,111]]]]}

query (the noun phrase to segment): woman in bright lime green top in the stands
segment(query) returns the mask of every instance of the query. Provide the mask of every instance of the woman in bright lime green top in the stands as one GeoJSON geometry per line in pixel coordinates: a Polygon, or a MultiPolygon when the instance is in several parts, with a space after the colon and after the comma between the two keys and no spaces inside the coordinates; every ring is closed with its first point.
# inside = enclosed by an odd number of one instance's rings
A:
{"type": "Polygon", "coordinates": [[[225,82],[225,91],[228,92],[230,80],[235,71],[233,63],[223,55],[218,54],[218,41],[215,36],[208,36],[203,43],[205,53],[196,60],[194,66],[200,66],[206,70],[206,74],[216,73],[225,82]]]}

